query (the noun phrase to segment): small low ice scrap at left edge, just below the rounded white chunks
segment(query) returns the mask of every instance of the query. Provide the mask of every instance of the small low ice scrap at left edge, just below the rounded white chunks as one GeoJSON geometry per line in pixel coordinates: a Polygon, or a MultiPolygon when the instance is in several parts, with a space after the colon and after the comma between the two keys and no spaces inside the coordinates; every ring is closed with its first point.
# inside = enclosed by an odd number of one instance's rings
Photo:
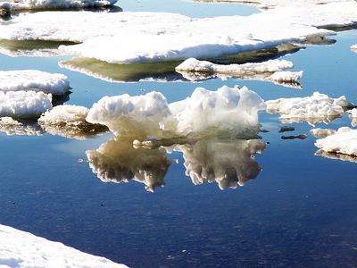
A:
{"type": "Polygon", "coordinates": [[[11,117],[0,117],[0,131],[8,136],[41,136],[44,132],[37,124],[24,124],[11,117]]]}

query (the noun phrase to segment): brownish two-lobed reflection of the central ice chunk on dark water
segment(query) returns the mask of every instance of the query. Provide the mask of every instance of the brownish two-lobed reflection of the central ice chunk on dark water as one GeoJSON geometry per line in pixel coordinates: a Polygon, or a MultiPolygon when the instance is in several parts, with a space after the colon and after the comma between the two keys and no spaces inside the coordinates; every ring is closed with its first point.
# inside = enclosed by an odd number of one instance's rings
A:
{"type": "Polygon", "coordinates": [[[257,139],[203,138],[183,145],[162,144],[165,147],[134,148],[133,139],[112,138],[87,151],[87,159],[92,172],[104,182],[136,180],[154,191],[165,185],[163,179],[171,164],[167,153],[175,150],[182,152],[186,175],[195,185],[215,181],[220,189],[226,189],[243,186],[258,176],[262,168],[254,156],[266,148],[257,139]]]}

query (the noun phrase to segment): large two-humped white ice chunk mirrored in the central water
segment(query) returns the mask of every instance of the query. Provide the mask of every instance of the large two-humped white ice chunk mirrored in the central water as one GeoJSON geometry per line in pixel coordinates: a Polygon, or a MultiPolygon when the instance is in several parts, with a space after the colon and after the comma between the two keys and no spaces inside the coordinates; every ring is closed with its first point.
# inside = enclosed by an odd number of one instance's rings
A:
{"type": "Polygon", "coordinates": [[[196,88],[187,99],[171,103],[161,93],[104,96],[86,120],[103,124],[116,136],[173,138],[233,135],[255,137],[258,111],[265,104],[248,88],[196,88]]]}

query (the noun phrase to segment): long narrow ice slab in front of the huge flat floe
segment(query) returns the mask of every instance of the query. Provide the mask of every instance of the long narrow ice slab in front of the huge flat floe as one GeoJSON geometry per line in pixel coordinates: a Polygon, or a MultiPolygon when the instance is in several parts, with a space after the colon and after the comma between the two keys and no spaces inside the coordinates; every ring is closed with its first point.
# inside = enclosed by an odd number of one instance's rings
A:
{"type": "Polygon", "coordinates": [[[282,85],[300,88],[297,80],[303,76],[303,71],[283,71],[293,67],[294,64],[286,60],[223,65],[189,58],[184,63],[179,64],[176,71],[179,71],[187,80],[234,77],[248,80],[270,80],[282,85]]]}

